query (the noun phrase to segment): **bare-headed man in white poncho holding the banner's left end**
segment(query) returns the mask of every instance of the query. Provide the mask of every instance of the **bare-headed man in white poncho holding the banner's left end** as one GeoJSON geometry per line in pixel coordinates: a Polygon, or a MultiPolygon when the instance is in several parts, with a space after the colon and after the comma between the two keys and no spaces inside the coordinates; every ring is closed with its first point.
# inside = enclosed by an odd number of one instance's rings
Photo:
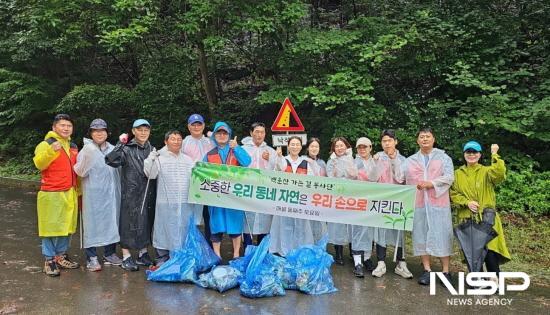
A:
{"type": "Polygon", "coordinates": [[[164,136],[166,146],[160,151],[151,152],[143,165],[145,175],[157,179],[153,226],[153,246],[160,255],[157,266],[169,259],[169,251],[182,247],[193,215],[187,203],[193,160],[180,152],[182,140],[181,132],[167,132],[164,136]]]}

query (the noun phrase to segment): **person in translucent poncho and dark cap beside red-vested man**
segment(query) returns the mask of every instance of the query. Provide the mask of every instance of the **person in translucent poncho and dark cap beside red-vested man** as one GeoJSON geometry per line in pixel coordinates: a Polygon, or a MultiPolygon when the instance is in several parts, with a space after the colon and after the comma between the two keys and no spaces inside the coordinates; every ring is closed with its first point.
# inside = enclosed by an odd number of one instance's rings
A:
{"type": "Polygon", "coordinates": [[[120,170],[105,164],[105,155],[114,146],[107,142],[107,123],[94,119],[90,124],[92,141],[84,139],[74,171],[82,183],[83,243],[86,249],[86,269],[100,271],[96,247],[104,246],[106,265],[120,266],[122,259],[116,254],[120,241],[118,219],[120,215],[120,170]]]}

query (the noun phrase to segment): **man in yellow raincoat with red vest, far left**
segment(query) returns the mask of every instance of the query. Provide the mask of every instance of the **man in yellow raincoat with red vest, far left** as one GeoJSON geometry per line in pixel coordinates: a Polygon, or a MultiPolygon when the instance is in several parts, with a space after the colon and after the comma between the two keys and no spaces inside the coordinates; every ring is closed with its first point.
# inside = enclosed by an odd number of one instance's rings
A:
{"type": "Polygon", "coordinates": [[[34,165],[41,172],[37,196],[38,236],[46,258],[44,273],[59,276],[59,268],[76,269],[68,259],[70,235],[78,216],[77,176],[73,170],[78,148],[70,142],[73,122],[66,114],[55,116],[49,131],[34,150],[34,165]]]}

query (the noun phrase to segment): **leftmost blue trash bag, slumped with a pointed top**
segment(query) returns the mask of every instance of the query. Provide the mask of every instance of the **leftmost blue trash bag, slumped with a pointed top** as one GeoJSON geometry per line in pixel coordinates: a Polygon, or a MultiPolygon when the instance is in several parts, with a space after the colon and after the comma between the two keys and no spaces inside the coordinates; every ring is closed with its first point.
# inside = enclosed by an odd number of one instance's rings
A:
{"type": "Polygon", "coordinates": [[[206,242],[194,218],[189,219],[187,238],[182,248],[170,252],[168,259],[157,270],[147,270],[147,280],[163,282],[195,282],[198,274],[221,261],[206,242]]]}

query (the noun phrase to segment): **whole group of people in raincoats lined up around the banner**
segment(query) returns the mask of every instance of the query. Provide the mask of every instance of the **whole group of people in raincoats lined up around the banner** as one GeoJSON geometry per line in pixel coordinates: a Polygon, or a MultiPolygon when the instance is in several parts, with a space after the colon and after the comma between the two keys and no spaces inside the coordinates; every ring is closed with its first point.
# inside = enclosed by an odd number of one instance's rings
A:
{"type": "MultiPolygon", "coordinates": [[[[350,142],[336,137],[326,163],[319,157],[318,138],[310,138],[304,145],[300,137],[291,136],[287,155],[283,156],[281,147],[273,149],[266,144],[263,123],[252,124],[250,136],[241,145],[224,122],[216,123],[211,135],[205,136],[204,118],[199,114],[189,116],[187,128],[189,135],[185,138],[178,130],[168,131],[165,146],[156,150],[149,143],[151,124],[138,119],[132,125],[133,138],[128,140],[128,135],[122,134],[113,146],[107,142],[107,123],[95,119],[89,128],[91,139],[86,139],[78,152],[70,142],[72,119],[65,114],[55,116],[52,131],[36,147],[34,157],[42,172],[37,208],[47,275],[58,276],[59,268],[79,267],[69,259],[67,250],[70,235],[76,231],[81,195],[82,245],[90,271],[102,268],[97,247],[104,247],[104,264],[120,265],[125,270],[161,265],[170,258],[170,251],[182,247],[193,220],[193,224],[204,224],[205,238],[220,257],[224,234],[232,241],[233,258],[241,255],[241,243],[246,248],[267,234],[271,235],[270,251],[281,256],[328,234],[337,264],[344,264],[344,247],[349,246],[355,276],[364,277],[366,270],[382,277],[386,273],[387,247],[396,246],[395,273],[413,278],[405,262],[404,231],[188,203],[191,170],[195,162],[205,161],[304,176],[416,186],[413,254],[421,256],[424,268],[418,282],[428,285],[432,256],[440,259],[443,273],[451,279],[451,206],[461,221],[480,217],[486,208],[495,209],[494,187],[506,173],[498,145],[491,146],[491,165],[483,166],[483,150],[475,141],[464,145],[465,165],[455,171],[451,158],[434,147],[436,138],[430,128],[418,131],[419,151],[408,158],[397,150],[394,130],[381,132],[382,151],[376,154],[372,154],[370,139],[357,139],[355,158],[350,142]],[[122,258],[116,254],[117,244],[122,258]],[[156,252],[154,261],[148,253],[149,245],[156,252]],[[137,252],[135,259],[131,250],[137,252]]],[[[498,236],[487,245],[485,265],[487,271],[498,273],[499,265],[510,259],[498,213],[493,228],[498,236]]]]}

